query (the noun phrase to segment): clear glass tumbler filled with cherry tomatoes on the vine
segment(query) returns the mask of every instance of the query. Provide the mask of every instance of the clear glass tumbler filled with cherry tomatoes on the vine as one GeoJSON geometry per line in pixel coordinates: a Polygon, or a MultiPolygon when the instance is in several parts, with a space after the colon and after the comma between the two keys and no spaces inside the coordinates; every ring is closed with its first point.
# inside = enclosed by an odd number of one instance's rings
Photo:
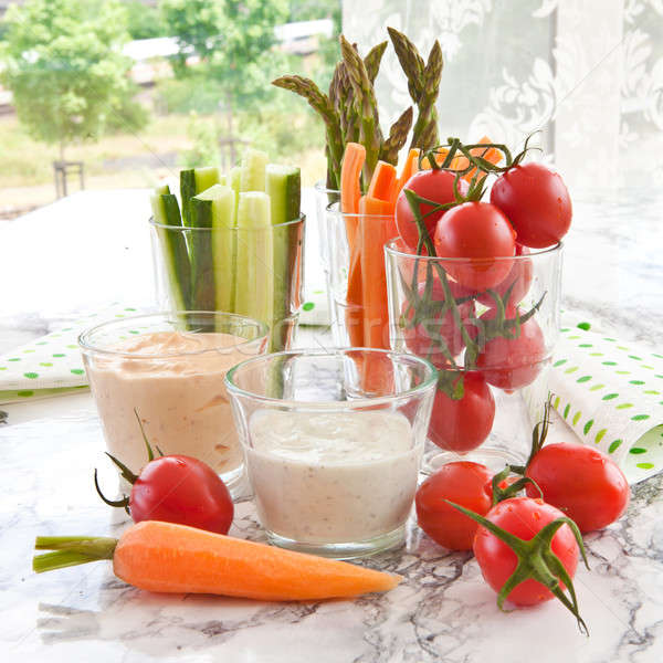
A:
{"type": "Polygon", "coordinates": [[[393,240],[385,255],[391,347],[440,373],[424,469],[522,463],[548,399],[561,244],[480,261],[417,255],[393,240]]]}

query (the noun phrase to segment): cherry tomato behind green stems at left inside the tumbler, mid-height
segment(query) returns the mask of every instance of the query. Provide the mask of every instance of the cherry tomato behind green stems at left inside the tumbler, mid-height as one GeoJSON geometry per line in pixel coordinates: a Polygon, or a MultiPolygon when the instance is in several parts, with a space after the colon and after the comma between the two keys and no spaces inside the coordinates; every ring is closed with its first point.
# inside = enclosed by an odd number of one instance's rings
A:
{"type": "MultiPolygon", "coordinates": [[[[461,296],[460,288],[455,283],[450,282],[449,285],[452,296],[461,296]]],[[[445,299],[444,287],[439,278],[433,281],[433,286],[429,295],[425,295],[425,283],[420,283],[418,285],[418,295],[420,302],[422,297],[428,296],[428,302],[431,304],[440,304],[445,299]]],[[[459,304],[459,311],[463,320],[473,317],[474,302],[472,299],[462,302],[459,304]]],[[[408,302],[403,303],[401,315],[404,316],[406,322],[413,318],[414,309],[408,302]]],[[[446,344],[449,351],[454,357],[465,347],[465,341],[451,311],[446,311],[444,314],[431,313],[430,316],[425,316],[414,327],[406,327],[403,329],[403,338],[406,347],[410,352],[425,357],[438,368],[449,365],[449,359],[440,350],[441,340],[446,344]]]]}

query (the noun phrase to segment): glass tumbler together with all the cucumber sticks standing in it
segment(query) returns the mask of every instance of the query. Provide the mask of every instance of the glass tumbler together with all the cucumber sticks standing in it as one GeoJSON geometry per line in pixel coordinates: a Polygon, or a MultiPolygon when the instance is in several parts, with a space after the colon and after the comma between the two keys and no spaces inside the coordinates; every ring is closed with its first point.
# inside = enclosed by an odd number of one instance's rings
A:
{"type": "Polygon", "coordinates": [[[270,327],[270,350],[291,347],[303,290],[299,168],[250,149],[227,175],[181,170],[179,196],[151,194],[157,301],[171,311],[236,313],[270,327]]]}

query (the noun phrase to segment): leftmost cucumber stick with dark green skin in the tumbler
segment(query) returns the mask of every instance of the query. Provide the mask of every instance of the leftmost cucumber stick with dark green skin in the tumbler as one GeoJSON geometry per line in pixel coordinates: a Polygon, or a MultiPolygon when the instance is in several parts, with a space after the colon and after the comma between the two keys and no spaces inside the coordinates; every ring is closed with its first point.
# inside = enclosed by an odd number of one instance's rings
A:
{"type": "Polygon", "coordinates": [[[150,202],[155,221],[160,225],[172,227],[156,227],[157,236],[161,245],[172,304],[179,311],[187,311],[191,295],[191,265],[185,233],[177,230],[177,227],[182,224],[177,198],[170,193],[168,185],[164,185],[155,189],[150,202]]]}

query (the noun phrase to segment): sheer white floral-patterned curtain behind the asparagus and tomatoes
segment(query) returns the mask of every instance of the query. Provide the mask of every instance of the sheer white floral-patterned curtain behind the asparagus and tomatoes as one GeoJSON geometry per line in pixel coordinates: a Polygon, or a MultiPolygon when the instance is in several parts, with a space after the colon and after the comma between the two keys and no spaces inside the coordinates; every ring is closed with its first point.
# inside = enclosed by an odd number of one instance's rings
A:
{"type": "MultiPolygon", "coordinates": [[[[663,0],[344,0],[366,50],[406,32],[444,53],[441,136],[518,147],[532,131],[571,188],[663,185],[663,0]]],[[[382,124],[410,103],[393,51],[382,124]]]]}

